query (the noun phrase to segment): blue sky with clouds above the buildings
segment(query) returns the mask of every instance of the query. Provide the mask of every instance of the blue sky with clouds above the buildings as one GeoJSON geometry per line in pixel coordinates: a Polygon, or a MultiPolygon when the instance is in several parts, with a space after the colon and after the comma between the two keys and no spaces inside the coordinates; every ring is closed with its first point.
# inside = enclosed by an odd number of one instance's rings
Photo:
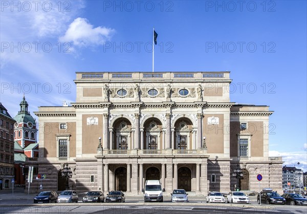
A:
{"type": "Polygon", "coordinates": [[[0,102],[14,116],[24,92],[31,112],[75,102],[75,72],[151,71],[155,27],[156,71],[230,70],[232,102],[274,111],[270,155],[306,171],[306,9],[306,1],[1,1],[0,102]]]}

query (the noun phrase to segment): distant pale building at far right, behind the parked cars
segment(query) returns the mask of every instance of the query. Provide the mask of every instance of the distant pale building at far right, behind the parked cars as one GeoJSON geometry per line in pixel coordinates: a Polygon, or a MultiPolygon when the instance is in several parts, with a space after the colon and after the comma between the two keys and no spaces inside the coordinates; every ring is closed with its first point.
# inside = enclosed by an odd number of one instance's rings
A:
{"type": "Polygon", "coordinates": [[[299,185],[303,186],[303,171],[296,167],[282,167],[282,186],[296,188],[299,185]]]}

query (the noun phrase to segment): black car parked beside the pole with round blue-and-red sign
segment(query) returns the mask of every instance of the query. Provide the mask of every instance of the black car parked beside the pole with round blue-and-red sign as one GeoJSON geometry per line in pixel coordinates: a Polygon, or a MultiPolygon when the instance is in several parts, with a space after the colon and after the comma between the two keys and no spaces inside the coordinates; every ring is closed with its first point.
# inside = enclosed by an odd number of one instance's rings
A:
{"type": "Polygon", "coordinates": [[[260,198],[261,198],[261,204],[285,204],[286,199],[281,197],[278,193],[273,192],[273,189],[271,188],[264,188],[262,189],[262,192],[258,194],[257,196],[257,203],[260,204],[260,198]],[[261,197],[260,197],[261,195],[261,197]]]}

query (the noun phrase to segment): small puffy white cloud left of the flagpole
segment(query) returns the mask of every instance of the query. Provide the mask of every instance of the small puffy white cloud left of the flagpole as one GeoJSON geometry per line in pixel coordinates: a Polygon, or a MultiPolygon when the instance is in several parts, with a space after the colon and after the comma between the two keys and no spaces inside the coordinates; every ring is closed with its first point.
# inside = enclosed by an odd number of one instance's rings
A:
{"type": "Polygon", "coordinates": [[[114,29],[97,27],[93,25],[86,18],[76,18],[69,26],[65,35],[59,38],[61,42],[73,42],[76,46],[96,46],[109,40],[114,29]]]}

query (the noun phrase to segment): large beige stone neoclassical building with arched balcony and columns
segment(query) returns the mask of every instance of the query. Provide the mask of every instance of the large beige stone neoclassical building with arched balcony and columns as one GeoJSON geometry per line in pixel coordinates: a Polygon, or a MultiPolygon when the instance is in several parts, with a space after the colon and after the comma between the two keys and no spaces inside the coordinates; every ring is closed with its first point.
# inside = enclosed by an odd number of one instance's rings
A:
{"type": "MultiPolygon", "coordinates": [[[[230,102],[230,72],[76,73],[72,106],[39,107],[39,157],[44,188],[121,190],[142,195],[145,180],[167,193],[282,189],[282,160],[269,157],[268,106],[230,102]]],[[[32,184],[35,191],[35,183],[32,184]]],[[[38,186],[38,184],[37,184],[38,186]]],[[[38,188],[37,188],[38,189],[38,188]]]]}

